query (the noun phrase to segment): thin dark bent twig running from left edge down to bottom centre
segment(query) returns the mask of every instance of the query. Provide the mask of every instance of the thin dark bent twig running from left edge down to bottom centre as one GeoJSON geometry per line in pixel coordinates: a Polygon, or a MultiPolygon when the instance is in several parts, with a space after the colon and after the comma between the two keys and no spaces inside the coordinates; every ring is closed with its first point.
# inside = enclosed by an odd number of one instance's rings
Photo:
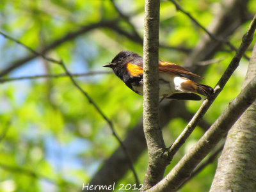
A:
{"type": "Polygon", "coordinates": [[[116,134],[115,132],[115,129],[113,127],[113,124],[112,122],[109,120],[109,118],[104,115],[104,113],[102,112],[102,110],[99,108],[99,106],[92,100],[92,98],[88,95],[88,93],[84,92],[83,88],[81,88],[81,86],[79,86],[79,84],[76,83],[75,79],[72,77],[72,74],[70,72],[68,72],[68,69],[67,67],[65,66],[65,64],[63,63],[63,61],[58,61],[58,60],[55,60],[55,59],[52,59],[52,58],[48,58],[47,56],[44,56],[44,54],[41,54],[39,52],[36,52],[35,50],[31,49],[30,47],[28,47],[27,45],[24,45],[22,44],[19,40],[15,40],[15,38],[12,38],[11,36],[8,36],[2,32],[0,32],[1,35],[3,35],[5,38],[8,38],[10,40],[12,40],[13,42],[16,42],[17,44],[20,44],[22,45],[22,47],[28,49],[29,51],[33,52],[33,54],[36,54],[37,56],[41,56],[42,58],[44,58],[44,60],[47,60],[47,61],[51,61],[52,63],[56,63],[58,65],[60,65],[63,70],[65,70],[67,76],[70,77],[70,80],[72,81],[72,83],[74,84],[74,86],[76,86],[76,88],[81,92],[83,93],[84,97],[86,97],[86,99],[88,99],[88,102],[90,102],[90,104],[93,105],[93,107],[96,109],[96,111],[100,114],[100,116],[102,116],[102,118],[104,118],[104,120],[106,120],[106,122],[108,123],[111,131],[112,131],[112,134],[113,136],[115,136],[116,140],[118,140],[118,143],[120,143],[120,146],[122,147],[122,149],[124,150],[124,153],[125,153],[125,156],[127,156],[127,159],[129,159],[129,165],[130,165],[130,168],[132,170],[132,173],[134,175],[134,179],[136,181],[136,184],[140,184],[139,180],[138,180],[138,175],[137,173],[135,172],[134,170],[134,167],[132,165],[132,159],[131,157],[129,156],[129,153],[127,152],[127,149],[124,145],[124,143],[122,143],[122,140],[119,138],[119,136],[116,134]]]}

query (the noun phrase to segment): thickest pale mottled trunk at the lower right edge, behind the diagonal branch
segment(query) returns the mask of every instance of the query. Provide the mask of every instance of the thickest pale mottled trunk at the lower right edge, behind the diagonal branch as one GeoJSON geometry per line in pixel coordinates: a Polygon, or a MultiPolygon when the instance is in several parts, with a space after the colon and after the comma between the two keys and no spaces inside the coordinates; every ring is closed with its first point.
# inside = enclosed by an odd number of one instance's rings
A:
{"type": "MultiPolygon", "coordinates": [[[[256,45],[243,87],[256,76],[256,45]]],[[[252,90],[255,92],[255,90],[252,90]]],[[[230,129],[211,191],[255,191],[256,189],[256,102],[230,129]]]]}

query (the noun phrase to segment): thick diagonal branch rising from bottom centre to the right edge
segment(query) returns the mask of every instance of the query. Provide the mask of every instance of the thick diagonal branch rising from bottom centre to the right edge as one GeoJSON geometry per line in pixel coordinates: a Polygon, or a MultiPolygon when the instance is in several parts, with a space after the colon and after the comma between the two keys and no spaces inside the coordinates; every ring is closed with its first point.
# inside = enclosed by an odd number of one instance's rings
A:
{"type": "Polygon", "coordinates": [[[175,191],[193,172],[202,159],[227,134],[237,119],[256,99],[256,77],[230,102],[225,111],[205,132],[204,136],[180,159],[173,170],[159,183],[148,191],[175,191]]]}

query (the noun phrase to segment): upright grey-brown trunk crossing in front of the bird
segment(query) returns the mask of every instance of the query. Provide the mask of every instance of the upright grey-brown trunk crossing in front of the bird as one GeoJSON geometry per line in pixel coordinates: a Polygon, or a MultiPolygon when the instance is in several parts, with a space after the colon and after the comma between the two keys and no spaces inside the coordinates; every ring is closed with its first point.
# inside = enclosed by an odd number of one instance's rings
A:
{"type": "Polygon", "coordinates": [[[159,125],[159,0],[145,1],[144,65],[143,65],[143,129],[148,147],[148,167],[144,188],[151,188],[163,178],[168,161],[163,159],[165,148],[159,125]]]}

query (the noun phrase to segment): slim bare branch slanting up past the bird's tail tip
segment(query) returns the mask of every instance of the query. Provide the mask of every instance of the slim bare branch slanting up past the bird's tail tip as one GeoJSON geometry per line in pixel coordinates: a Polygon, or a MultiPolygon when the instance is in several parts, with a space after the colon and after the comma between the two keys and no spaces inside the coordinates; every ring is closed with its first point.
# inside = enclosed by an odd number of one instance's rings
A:
{"type": "Polygon", "coordinates": [[[253,33],[255,31],[255,28],[256,28],[256,15],[253,18],[253,20],[250,24],[250,27],[248,28],[248,31],[244,34],[243,41],[242,41],[239,49],[237,50],[236,55],[234,56],[234,58],[228,65],[228,68],[224,72],[223,76],[221,76],[220,81],[216,84],[216,86],[214,88],[214,95],[212,95],[212,97],[209,97],[208,99],[204,100],[202,106],[200,107],[200,109],[198,109],[195,116],[193,116],[193,118],[191,119],[189,124],[186,126],[184,131],[182,131],[180,136],[177,138],[177,140],[174,141],[173,145],[170,147],[170,150],[168,152],[168,158],[170,160],[172,160],[172,158],[176,154],[177,150],[179,150],[179,148],[183,145],[183,143],[186,141],[186,139],[189,137],[189,135],[193,132],[193,130],[195,129],[198,122],[200,122],[202,117],[205,115],[206,111],[211,106],[214,99],[216,99],[216,97],[219,95],[221,90],[223,90],[223,87],[227,83],[228,79],[232,76],[234,70],[236,70],[236,68],[238,67],[239,62],[240,62],[244,52],[246,51],[246,49],[252,42],[253,33]]]}

